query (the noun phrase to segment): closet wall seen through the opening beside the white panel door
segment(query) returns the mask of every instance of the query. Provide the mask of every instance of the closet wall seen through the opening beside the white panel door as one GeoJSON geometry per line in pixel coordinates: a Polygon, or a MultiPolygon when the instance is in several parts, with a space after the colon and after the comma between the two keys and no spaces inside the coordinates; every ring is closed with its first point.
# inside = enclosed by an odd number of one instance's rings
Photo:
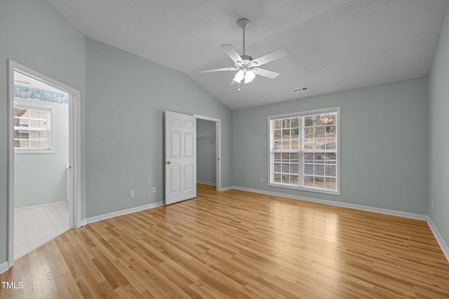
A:
{"type": "Polygon", "coordinates": [[[197,119],[196,137],[196,181],[215,185],[215,122],[197,119]]]}

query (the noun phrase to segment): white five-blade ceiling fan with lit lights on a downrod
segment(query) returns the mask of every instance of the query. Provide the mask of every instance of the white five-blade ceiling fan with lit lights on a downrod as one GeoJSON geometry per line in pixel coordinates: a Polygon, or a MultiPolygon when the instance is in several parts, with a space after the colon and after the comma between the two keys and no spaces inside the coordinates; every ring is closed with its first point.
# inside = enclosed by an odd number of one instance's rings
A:
{"type": "Polygon", "coordinates": [[[253,81],[256,75],[264,76],[267,78],[276,78],[279,73],[275,71],[269,71],[267,69],[260,69],[260,66],[278,60],[281,57],[288,55],[286,48],[280,48],[272,53],[268,53],[262,57],[253,60],[253,57],[245,55],[245,28],[250,25],[250,21],[246,18],[240,19],[237,24],[243,29],[243,55],[239,55],[236,49],[232,45],[221,45],[220,47],[225,51],[225,53],[234,61],[234,67],[225,67],[222,69],[208,69],[206,71],[201,71],[201,73],[209,73],[213,71],[237,71],[231,84],[240,83],[250,83],[253,81]]]}

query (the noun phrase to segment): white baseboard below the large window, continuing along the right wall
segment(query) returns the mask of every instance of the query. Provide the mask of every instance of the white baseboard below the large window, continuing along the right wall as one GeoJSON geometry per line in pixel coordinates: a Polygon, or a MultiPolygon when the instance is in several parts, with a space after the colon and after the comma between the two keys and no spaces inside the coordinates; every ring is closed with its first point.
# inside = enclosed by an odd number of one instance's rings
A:
{"type": "MultiPolygon", "coordinates": [[[[440,245],[441,250],[443,251],[446,259],[449,261],[448,245],[445,244],[443,237],[441,237],[440,233],[436,229],[436,226],[431,221],[431,218],[427,215],[413,214],[413,213],[408,213],[405,211],[395,211],[395,210],[390,210],[390,209],[367,207],[367,206],[363,206],[361,204],[347,204],[345,202],[333,202],[332,200],[317,200],[316,198],[311,198],[311,197],[302,197],[302,196],[297,196],[297,195],[290,195],[290,194],[278,193],[278,192],[270,192],[270,191],[258,190],[258,189],[253,189],[253,188],[244,188],[244,187],[239,187],[239,186],[230,186],[230,187],[226,188],[226,190],[230,190],[230,189],[249,191],[249,192],[260,193],[260,194],[265,194],[265,195],[286,197],[286,198],[290,198],[293,200],[304,200],[307,202],[318,202],[320,204],[329,204],[329,205],[333,205],[333,206],[337,206],[337,207],[346,207],[349,209],[358,209],[358,210],[362,210],[362,211],[373,211],[375,213],[387,214],[387,215],[392,215],[392,216],[400,216],[400,217],[405,217],[405,218],[413,218],[413,219],[417,219],[417,220],[424,220],[424,221],[427,221],[427,223],[429,224],[429,228],[434,233],[434,237],[435,237],[436,241],[440,245]]],[[[224,191],[224,190],[222,189],[222,191],[224,191]]]]}

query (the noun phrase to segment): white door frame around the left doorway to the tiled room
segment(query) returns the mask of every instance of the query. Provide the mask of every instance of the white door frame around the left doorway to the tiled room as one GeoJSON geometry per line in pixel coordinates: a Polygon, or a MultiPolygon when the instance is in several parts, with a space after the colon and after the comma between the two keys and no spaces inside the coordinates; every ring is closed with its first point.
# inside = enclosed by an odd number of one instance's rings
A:
{"type": "Polygon", "coordinates": [[[67,195],[69,200],[69,228],[81,226],[81,92],[45,76],[34,69],[8,60],[8,268],[14,265],[14,71],[53,85],[69,94],[69,174],[67,195]]]}

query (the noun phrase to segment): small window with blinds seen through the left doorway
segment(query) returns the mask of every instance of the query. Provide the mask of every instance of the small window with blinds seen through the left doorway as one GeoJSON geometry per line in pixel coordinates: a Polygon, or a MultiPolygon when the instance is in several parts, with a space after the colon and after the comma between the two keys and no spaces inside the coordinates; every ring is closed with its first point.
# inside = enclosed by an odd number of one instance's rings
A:
{"type": "Polygon", "coordinates": [[[51,153],[51,106],[14,106],[14,148],[16,153],[51,153]]]}

